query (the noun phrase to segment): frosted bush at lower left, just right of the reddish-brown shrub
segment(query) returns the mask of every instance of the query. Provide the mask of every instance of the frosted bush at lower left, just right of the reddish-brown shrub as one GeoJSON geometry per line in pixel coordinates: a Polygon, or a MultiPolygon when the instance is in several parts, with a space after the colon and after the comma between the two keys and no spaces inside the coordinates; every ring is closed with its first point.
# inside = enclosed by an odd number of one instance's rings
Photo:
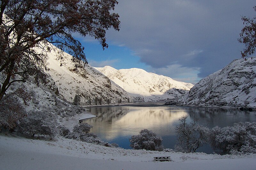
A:
{"type": "Polygon", "coordinates": [[[34,137],[49,136],[55,137],[56,124],[50,119],[50,115],[45,112],[30,112],[22,120],[18,121],[17,131],[34,137]]]}

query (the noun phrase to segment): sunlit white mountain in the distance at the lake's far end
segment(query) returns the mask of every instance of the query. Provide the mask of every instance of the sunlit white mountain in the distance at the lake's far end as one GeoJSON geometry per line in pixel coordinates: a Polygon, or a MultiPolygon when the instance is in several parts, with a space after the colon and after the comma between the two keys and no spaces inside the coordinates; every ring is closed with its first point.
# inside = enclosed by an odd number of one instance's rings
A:
{"type": "Polygon", "coordinates": [[[145,101],[158,101],[167,98],[179,98],[193,86],[172,78],[148,73],[145,70],[132,68],[116,70],[110,66],[95,68],[125,91],[143,96],[145,101]]]}

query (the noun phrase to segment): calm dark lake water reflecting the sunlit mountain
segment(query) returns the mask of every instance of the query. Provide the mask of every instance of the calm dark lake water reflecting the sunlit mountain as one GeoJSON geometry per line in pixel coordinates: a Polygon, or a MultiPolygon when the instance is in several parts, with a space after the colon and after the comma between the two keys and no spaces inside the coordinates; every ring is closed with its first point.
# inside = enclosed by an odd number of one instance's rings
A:
{"type": "MultiPolygon", "coordinates": [[[[179,118],[188,115],[188,122],[197,120],[199,125],[209,128],[232,126],[235,122],[256,122],[256,112],[228,108],[176,107],[162,104],[133,104],[125,106],[88,107],[98,117],[84,120],[93,126],[94,132],[109,143],[131,148],[129,138],[138,135],[141,129],[149,129],[163,138],[164,148],[174,148],[175,127],[179,118]]],[[[212,153],[209,145],[202,146],[197,152],[212,153]]]]}

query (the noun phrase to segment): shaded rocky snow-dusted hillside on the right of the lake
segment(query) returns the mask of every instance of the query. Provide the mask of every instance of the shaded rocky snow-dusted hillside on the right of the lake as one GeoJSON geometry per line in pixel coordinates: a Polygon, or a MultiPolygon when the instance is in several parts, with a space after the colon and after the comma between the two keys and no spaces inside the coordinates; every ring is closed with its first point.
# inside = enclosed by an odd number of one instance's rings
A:
{"type": "Polygon", "coordinates": [[[189,106],[256,107],[256,58],[234,60],[192,87],[189,106]]]}

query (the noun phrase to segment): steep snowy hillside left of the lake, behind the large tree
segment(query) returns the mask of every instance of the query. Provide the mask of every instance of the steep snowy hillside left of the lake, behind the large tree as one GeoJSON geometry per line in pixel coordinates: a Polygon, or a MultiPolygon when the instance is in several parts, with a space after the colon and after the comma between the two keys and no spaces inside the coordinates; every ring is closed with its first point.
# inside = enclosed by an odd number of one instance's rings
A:
{"type": "Polygon", "coordinates": [[[81,105],[97,105],[100,102],[114,104],[118,103],[118,100],[124,103],[142,101],[140,98],[135,100],[133,96],[90,65],[84,64],[84,67],[74,70],[75,63],[71,62],[72,56],[60,49],[55,48],[47,55],[49,59],[46,72],[55,81],[61,98],[68,102],[72,103],[76,94],[81,97],[81,105]],[[60,59],[59,53],[63,53],[64,57],[60,59]]]}

